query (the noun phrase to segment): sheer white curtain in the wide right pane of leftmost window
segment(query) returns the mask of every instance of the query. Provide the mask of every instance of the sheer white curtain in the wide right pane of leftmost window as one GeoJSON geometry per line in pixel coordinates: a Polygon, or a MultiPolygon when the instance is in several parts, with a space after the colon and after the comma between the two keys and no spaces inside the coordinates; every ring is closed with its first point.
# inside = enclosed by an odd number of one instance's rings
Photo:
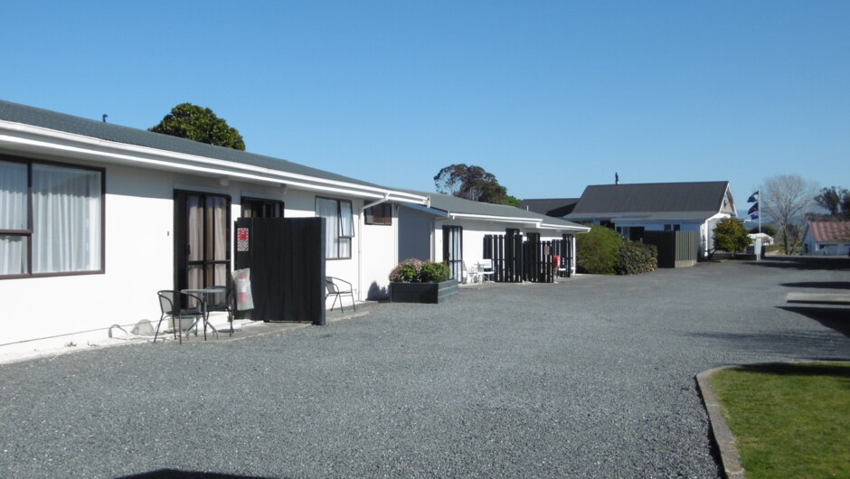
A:
{"type": "Polygon", "coordinates": [[[96,271],[100,173],[33,164],[33,273],[96,271]]]}

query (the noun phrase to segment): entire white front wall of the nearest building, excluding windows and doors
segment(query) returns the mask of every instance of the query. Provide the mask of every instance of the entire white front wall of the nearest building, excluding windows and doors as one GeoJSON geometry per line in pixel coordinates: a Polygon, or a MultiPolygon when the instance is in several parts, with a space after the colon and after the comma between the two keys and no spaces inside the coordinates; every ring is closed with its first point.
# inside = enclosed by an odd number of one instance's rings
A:
{"type": "MultiPolygon", "coordinates": [[[[65,277],[0,279],[5,298],[0,345],[37,338],[101,330],[112,324],[154,323],[160,309],[156,291],[174,288],[175,189],[231,196],[231,221],[241,216],[241,197],[279,200],[288,218],[314,217],[316,193],[217,178],[150,171],[122,165],[67,162],[104,167],[105,273],[65,277]]],[[[333,195],[320,196],[334,198],[333,195]]],[[[355,225],[364,202],[352,200],[355,225]]],[[[373,284],[380,291],[397,256],[397,221],[393,226],[365,226],[352,239],[352,257],[326,261],[326,275],[344,278],[361,289],[363,298],[373,284]],[[361,242],[364,248],[361,249],[361,242]],[[362,253],[362,257],[359,254],[362,253]],[[364,275],[358,274],[359,264],[364,275]],[[361,283],[365,286],[359,286],[361,283]]],[[[235,231],[231,230],[231,235],[235,231]]],[[[229,239],[232,244],[232,236],[229,239]]],[[[233,257],[231,251],[231,260],[233,257]]]]}

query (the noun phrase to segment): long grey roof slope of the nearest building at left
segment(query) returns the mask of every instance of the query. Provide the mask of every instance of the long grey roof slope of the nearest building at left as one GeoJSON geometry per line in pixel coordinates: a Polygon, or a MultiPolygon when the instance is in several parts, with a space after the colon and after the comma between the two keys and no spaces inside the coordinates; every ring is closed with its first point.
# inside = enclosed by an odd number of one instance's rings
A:
{"type": "Polygon", "coordinates": [[[176,136],[163,135],[137,128],[122,127],[83,117],[74,117],[72,115],[4,100],[0,100],[0,119],[127,145],[146,146],[186,155],[197,155],[238,164],[249,164],[251,166],[259,166],[261,168],[269,168],[292,174],[304,174],[325,180],[385,188],[378,184],[363,182],[348,176],[333,174],[272,156],[256,155],[223,146],[207,145],[176,136]]]}

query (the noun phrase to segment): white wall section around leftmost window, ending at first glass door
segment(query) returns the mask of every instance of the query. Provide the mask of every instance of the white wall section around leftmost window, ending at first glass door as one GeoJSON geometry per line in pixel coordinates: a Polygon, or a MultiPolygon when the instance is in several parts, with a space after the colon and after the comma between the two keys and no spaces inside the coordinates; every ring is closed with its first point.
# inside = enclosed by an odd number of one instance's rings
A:
{"type": "Polygon", "coordinates": [[[173,196],[164,174],[107,167],[105,274],[0,280],[0,343],[158,321],[156,291],[173,285],[173,196]]]}

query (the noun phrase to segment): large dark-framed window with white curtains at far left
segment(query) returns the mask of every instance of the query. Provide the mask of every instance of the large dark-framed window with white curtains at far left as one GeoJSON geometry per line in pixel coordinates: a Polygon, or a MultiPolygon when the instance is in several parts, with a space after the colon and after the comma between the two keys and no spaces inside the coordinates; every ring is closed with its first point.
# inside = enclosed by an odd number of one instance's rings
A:
{"type": "Polygon", "coordinates": [[[0,277],[103,271],[103,170],[0,159],[0,277]]]}

